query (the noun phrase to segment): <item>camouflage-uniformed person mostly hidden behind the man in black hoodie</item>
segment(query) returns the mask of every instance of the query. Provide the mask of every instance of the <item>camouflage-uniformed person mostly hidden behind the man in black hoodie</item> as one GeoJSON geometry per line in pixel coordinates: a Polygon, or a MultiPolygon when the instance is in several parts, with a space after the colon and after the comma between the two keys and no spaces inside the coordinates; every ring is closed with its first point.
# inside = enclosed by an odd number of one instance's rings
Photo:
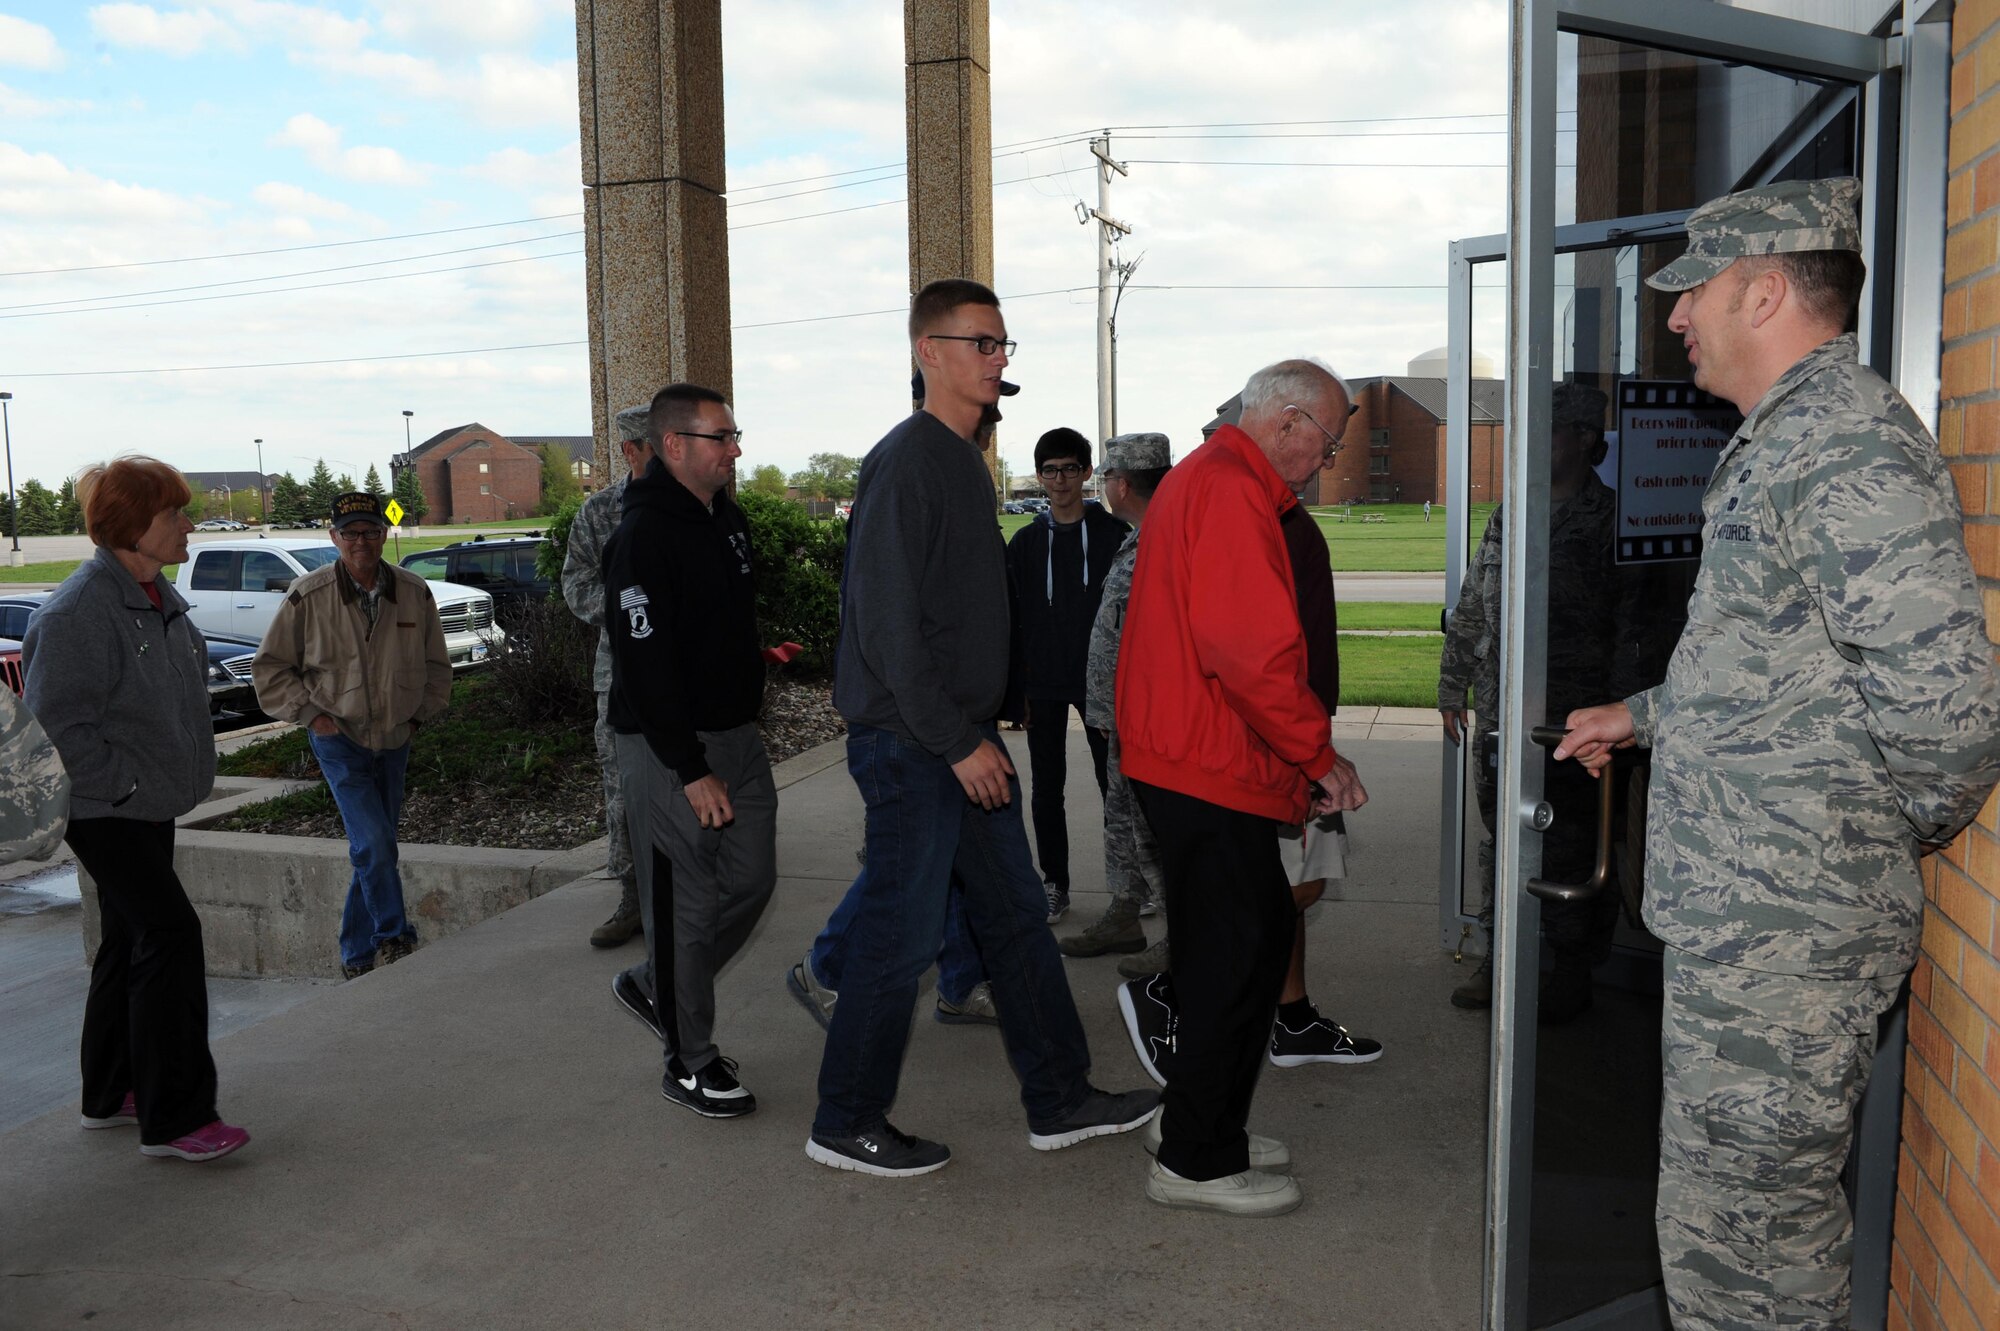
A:
{"type": "MultiPolygon", "coordinates": [[[[624,490],[634,476],[646,472],[652,448],[646,444],[648,404],[626,408],[612,418],[612,438],[624,454],[626,474],[584,500],[570,524],[570,544],[562,556],[562,600],[570,614],[598,630],[598,658],[590,667],[590,685],[598,693],[598,765],[604,771],[604,869],[618,879],[618,909],[590,931],[592,947],[616,947],[640,931],[638,871],[632,867],[632,837],[626,831],[624,793],[618,785],[618,745],[606,721],[612,691],[612,650],[604,636],[604,542],[618,530],[624,516],[624,490]]],[[[660,1025],[652,1001],[638,989],[612,981],[612,993],[626,1009],[658,1035],[660,1025]]]]}

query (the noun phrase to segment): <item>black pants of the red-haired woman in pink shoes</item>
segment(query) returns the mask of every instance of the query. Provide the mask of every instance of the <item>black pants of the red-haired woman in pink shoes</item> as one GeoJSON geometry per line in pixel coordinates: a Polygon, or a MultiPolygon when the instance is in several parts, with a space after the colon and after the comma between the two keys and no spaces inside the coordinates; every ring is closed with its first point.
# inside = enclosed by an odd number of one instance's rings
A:
{"type": "Polygon", "coordinates": [[[84,999],[84,1113],[138,1101],[138,1139],[162,1145],[216,1121],[202,921],[174,875],[174,823],[86,817],[70,849],[98,885],[104,941],[84,999]]]}

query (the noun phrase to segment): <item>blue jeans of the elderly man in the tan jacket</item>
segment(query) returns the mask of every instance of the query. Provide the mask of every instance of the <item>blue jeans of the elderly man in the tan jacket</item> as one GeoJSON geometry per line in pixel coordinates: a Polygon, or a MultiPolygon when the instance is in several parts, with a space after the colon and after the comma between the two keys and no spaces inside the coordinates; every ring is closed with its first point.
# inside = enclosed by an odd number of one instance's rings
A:
{"type": "Polygon", "coordinates": [[[410,933],[402,915],[402,873],[396,869],[396,819],[402,817],[402,771],[410,745],[364,749],[346,735],[306,739],[320,759],[340,821],[348,829],[348,903],[340,911],[340,961],[360,965],[392,937],[410,933]]]}

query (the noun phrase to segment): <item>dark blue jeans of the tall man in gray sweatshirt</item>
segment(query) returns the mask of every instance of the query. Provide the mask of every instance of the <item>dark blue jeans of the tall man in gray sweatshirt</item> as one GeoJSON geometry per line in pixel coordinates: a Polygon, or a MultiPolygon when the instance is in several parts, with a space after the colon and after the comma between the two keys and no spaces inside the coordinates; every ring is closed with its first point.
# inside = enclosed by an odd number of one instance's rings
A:
{"type": "MultiPolygon", "coordinates": [[[[984,725],[982,733],[1006,751],[996,727],[984,725]]],[[[1020,781],[1008,783],[1012,803],[988,813],[966,799],[942,757],[868,725],[848,727],[848,773],[868,807],[868,861],[848,891],[840,1003],[826,1029],[812,1129],[838,1137],[888,1121],[916,981],[944,935],[954,871],[1028,1125],[1060,1123],[1090,1093],[1090,1047],[1048,929],[1048,899],[1020,817],[1020,781]]]]}

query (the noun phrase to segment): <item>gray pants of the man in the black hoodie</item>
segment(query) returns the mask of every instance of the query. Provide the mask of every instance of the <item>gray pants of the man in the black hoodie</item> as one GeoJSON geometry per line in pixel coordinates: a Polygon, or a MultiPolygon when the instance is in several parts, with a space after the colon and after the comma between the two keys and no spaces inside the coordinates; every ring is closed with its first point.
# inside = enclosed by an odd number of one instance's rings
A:
{"type": "Polygon", "coordinates": [[[750,937],[778,883],[778,787],[756,725],[700,737],[736,809],[726,827],[694,819],[680,777],[644,735],[618,735],[646,925],[646,961],[626,973],[652,999],[668,1049],[690,1073],[716,1061],[716,971],[750,937]],[[672,1001],[662,1003],[662,991],[672,1001]]]}

